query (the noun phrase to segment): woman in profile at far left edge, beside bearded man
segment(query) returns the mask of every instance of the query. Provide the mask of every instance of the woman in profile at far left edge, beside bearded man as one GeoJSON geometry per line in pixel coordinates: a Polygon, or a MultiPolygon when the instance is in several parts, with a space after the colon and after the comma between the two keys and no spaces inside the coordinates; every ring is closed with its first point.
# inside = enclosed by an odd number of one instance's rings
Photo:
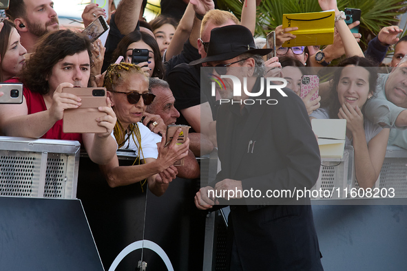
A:
{"type": "Polygon", "coordinates": [[[27,50],[20,43],[20,35],[12,21],[0,18],[0,82],[17,76],[25,63],[27,50]]]}

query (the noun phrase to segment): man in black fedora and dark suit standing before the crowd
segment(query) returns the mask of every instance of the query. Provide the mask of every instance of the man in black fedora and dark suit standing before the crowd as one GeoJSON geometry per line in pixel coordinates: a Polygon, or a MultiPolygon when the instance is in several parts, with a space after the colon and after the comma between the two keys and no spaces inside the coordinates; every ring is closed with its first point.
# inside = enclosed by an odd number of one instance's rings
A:
{"type": "Polygon", "coordinates": [[[207,63],[222,80],[213,84],[222,98],[216,123],[222,169],[195,203],[202,210],[231,206],[230,270],[319,271],[310,200],[290,195],[315,184],[320,153],[304,102],[262,78],[261,56],[269,52],[255,49],[247,28],[229,25],[213,29],[207,57],[191,63],[207,63]]]}

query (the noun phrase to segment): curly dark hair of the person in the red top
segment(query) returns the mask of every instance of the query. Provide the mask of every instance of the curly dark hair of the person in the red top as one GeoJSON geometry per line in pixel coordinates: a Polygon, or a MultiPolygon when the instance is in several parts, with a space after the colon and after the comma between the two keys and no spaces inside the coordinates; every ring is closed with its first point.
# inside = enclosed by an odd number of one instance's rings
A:
{"type": "Polygon", "coordinates": [[[26,62],[21,80],[33,92],[48,94],[48,80],[52,68],[65,56],[87,51],[92,63],[90,40],[81,33],[58,30],[45,34],[36,46],[36,51],[26,62]]]}

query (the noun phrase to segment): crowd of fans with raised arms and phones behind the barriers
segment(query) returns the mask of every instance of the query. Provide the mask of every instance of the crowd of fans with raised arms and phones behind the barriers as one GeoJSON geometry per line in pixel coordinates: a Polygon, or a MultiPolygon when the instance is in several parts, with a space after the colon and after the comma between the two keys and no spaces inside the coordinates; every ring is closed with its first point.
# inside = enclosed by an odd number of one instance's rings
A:
{"type": "MultiPolygon", "coordinates": [[[[23,103],[0,105],[0,134],[79,140],[111,187],[147,180],[149,189],[162,195],[177,175],[199,177],[196,157],[217,146],[222,94],[212,96],[201,88],[207,78],[201,78],[200,68],[207,61],[198,60],[215,50],[209,46],[213,29],[243,25],[254,34],[256,1],[244,3],[241,21],[231,12],[215,9],[212,0],[191,0],[180,21],[167,14],[147,23],[142,1],[121,0],[116,10],[109,1],[109,34],[103,45],[100,40],[91,43],[80,31],[59,30],[50,0],[10,1],[8,19],[0,23],[0,81],[23,83],[23,103]],[[133,50],[147,50],[147,60],[132,63],[133,50]],[[104,133],[63,133],[63,112],[81,105],[81,98],[62,91],[69,87],[106,87],[107,106],[98,109],[105,116],[96,119],[104,133]],[[165,144],[169,124],[191,127],[184,144],[175,144],[176,140],[165,144]],[[135,151],[137,164],[119,166],[117,149],[135,151]],[[173,166],[181,158],[184,165],[173,166]]],[[[399,39],[402,30],[389,25],[362,52],[361,35],[351,32],[360,22],[346,25],[335,0],[320,0],[320,6],[335,10],[333,44],[282,47],[295,39],[291,32],[298,28],[279,25],[275,57],[264,58],[260,75],[285,78],[287,87],[300,96],[302,76],[339,63],[331,78],[321,80],[302,101],[310,119],[346,119],[346,144],[355,149],[357,181],[362,188],[371,188],[387,145],[407,149],[407,38],[399,39]],[[393,45],[393,69],[379,74],[375,67],[393,45]],[[311,99],[315,93],[318,97],[311,99]]],[[[94,3],[86,6],[85,27],[99,15],[105,16],[105,10],[94,3]]],[[[217,66],[223,64],[226,73],[228,66],[243,66],[256,57],[255,52],[243,54],[236,63],[223,61],[217,66]]],[[[179,133],[180,129],[175,138],[179,133]]]]}

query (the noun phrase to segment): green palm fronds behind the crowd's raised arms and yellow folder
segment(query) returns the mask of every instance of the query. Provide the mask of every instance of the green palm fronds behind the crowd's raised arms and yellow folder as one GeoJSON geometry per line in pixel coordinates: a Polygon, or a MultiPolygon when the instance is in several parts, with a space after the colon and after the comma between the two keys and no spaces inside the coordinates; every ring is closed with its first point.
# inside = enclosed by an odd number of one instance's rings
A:
{"type": "MultiPolygon", "coordinates": [[[[240,0],[218,0],[222,10],[233,12],[240,19],[243,3],[240,0]]],[[[399,15],[407,11],[407,3],[399,0],[337,0],[340,10],[359,8],[362,10],[359,32],[362,34],[361,47],[364,49],[368,37],[376,36],[388,25],[397,25],[399,15]]],[[[265,36],[282,24],[282,14],[319,12],[317,0],[262,0],[257,8],[255,36],[265,36]]],[[[401,25],[404,26],[404,25],[401,25]]]]}

